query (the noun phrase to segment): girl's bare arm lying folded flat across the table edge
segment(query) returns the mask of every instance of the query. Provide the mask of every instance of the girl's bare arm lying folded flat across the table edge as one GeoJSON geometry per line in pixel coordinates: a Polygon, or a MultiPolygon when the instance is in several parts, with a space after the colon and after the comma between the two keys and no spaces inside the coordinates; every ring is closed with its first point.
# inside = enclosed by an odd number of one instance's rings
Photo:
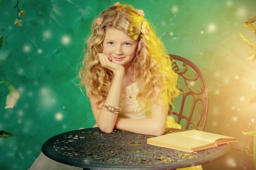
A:
{"type": "MultiPolygon", "coordinates": [[[[159,89],[154,88],[157,94],[159,94],[159,89]]],[[[154,101],[151,102],[151,118],[144,119],[125,119],[117,118],[115,122],[116,129],[122,129],[126,131],[131,131],[133,133],[147,134],[147,135],[162,135],[164,130],[166,130],[166,120],[167,120],[167,94],[163,93],[162,99],[160,97],[153,97],[158,104],[154,101]]]]}

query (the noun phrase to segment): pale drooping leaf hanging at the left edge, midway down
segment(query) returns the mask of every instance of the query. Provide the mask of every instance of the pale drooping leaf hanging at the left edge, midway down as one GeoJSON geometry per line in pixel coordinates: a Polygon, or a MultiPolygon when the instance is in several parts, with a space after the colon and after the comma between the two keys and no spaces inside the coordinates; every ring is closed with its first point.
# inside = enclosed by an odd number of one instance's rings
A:
{"type": "Polygon", "coordinates": [[[8,80],[5,80],[5,84],[8,87],[9,94],[6,97],[6,106],[5,109],[13,108],[19,99],[19,92],[8,80]]]}

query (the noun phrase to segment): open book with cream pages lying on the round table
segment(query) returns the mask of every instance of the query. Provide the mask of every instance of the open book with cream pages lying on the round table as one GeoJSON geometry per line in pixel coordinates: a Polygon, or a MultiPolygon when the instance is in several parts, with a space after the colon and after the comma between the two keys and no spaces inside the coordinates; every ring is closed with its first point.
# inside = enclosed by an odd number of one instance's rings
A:
{"type": "Polygon", "coordinates": [[[187,130],[148,138],[147,144],[172,148],[184,152],[193,152],[236,141],[238,141],[237,138],[226,137],[224,135],[207,133],[199,130],[187,130]]]}

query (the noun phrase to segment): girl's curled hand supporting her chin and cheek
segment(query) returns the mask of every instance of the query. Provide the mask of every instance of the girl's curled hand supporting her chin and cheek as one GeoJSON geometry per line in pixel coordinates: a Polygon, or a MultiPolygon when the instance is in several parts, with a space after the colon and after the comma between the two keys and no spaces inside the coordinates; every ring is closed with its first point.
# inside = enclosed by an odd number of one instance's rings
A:
{"type": "Polygon", "coordinates": [[[99,53],[98,58],[101,62],[101,66],[113,71],[114,74],[125,72],[125,68],[122,65],[119,65],[118,63],[112,62],[112,58],[110,56],[107,56],[103,53],[99,53]]]}

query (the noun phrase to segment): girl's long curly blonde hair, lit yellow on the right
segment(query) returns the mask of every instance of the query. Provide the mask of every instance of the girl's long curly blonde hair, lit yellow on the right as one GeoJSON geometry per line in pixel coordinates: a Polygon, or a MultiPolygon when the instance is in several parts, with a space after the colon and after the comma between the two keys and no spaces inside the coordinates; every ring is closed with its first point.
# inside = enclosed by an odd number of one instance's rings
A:
{"type": "Polygon", "coordinates": [[[130,5],[111,6],[101,12],[99,17],[103,19],[101,25],[92,23],[92,34],[84,45],[87,43],[85,58],[79,71],[80,87],[85,85],[87,95],[98,98],[97,107],[106,100],[114,74],[101,66],[98,53],[103,50],[106,29],[115,28],[133,40],[138,40],[133,59],[133,77],[139,87],[138,103],[142,108],[148,107],[155,95],[154,87],[158,87],[159,94],[167,94],[168,103],[172,105],[172,99],[179,94],[177,74],[172,70],[171,60],[163,43],[156,37],[147,20],[130,5]],[[146,22],[146,29],[149,30],[149,40],[141,33],[143,22],[146,22]]]}

